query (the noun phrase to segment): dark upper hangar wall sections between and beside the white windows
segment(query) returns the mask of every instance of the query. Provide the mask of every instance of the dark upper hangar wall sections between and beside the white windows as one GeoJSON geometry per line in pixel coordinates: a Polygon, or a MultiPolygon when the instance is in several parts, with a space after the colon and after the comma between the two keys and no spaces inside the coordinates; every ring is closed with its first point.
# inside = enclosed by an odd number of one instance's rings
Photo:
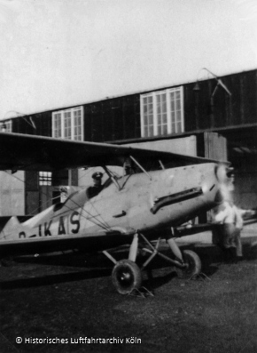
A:
{"type": "MultiPolygon", "coordinates": [[[[200,81],[197,91],[194,90],[195,83],[183,84],[185,132],[256,123],[257,70],[222,76],[222,83],[228,87],[231,96],[221,85],[214,93],[217,85],[214,78],[200,81]]],[[[140,93],[84,104],[83,108],[84,140],[141,137],[140,93]]],[[[12,120],[12,131],[51,136],[51,114],[52,111],[47,111],[19,116],[12,120]]]]}

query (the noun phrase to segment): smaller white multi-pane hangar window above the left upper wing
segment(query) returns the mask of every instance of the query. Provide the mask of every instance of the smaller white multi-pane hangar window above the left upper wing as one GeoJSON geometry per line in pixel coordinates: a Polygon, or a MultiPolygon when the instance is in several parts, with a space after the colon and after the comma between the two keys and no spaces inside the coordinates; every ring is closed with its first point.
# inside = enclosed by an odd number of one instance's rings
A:
{"type": "Polygon", "coordinates": [[[67,140],[83,140],[82,116],[82,107],[52,113],[52,137],[67,140]]]}

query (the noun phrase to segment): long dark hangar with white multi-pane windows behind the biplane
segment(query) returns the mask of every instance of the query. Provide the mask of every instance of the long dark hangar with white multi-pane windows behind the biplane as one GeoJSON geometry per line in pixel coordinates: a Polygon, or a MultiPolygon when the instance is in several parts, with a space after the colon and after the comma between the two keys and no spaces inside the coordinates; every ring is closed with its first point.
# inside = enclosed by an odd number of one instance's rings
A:
{"type": "MultiPolygon", "coordinates": [[[[18,115],[1,123],[7,132],[143,144],[229,160],[236,174],[236,204],[257,206],[257,69],[18,115]]],[[[38,213],[58,202],[59,186],[83,186],[90,183],[89,175],[82,170],[0,172],[0,215],[38,213]]]]}

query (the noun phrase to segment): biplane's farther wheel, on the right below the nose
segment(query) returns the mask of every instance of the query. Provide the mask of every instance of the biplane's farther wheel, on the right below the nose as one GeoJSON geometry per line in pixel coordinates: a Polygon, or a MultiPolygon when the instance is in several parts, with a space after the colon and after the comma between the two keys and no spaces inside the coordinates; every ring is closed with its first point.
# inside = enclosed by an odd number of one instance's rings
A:
{"type": "Polygon", "coordinates": [[[185,269],[175,269],[178,277],[189,279],[193,276],[199,275],[202,266],[197,253],[194,253],[191,250],[184,250],[183,261],[187,264],[187,267],[185,269]]]}

